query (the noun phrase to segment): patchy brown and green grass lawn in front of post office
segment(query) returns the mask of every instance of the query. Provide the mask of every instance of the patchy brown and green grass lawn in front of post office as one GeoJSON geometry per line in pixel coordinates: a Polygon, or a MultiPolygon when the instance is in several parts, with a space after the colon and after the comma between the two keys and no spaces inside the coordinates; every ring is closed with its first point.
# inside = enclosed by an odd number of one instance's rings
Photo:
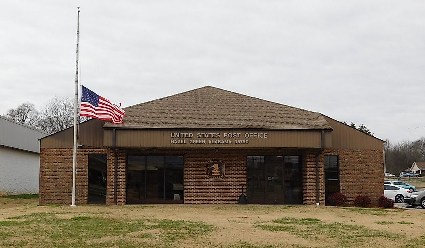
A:
{"type": "Polygon", "coordinates": [[[0,247],[425,247],[419,210],[37,204],[0,198],[0,247]]]}

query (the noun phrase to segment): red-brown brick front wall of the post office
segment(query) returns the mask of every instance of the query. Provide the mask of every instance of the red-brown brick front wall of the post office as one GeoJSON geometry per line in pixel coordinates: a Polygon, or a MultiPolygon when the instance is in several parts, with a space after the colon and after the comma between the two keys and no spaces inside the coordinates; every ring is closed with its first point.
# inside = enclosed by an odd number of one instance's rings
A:
{"type": "MultiPolygon", "coordinates": [[[[219,149],[142,149],[117,150],[118,183],[117,204],[126,203],[127,155],[183,155],[185,160],[184,203],[237,203],[240,184],[246,185],[247,155],[301,155],[303,168],[303,204],[316,203],[315,150],[225,150],[219,149]],[[225,163],[223,179],[210,179],[206,175],[209,160],[225,163]]],[[[78,149],[76,203],[87,204],[88,154],[107,153],[107,204],[115,204],[115,154],[112,149],[78,149]]],[[[369,195],[373,203],[383,195],[382,151],[325,150],[319,155],[319,185],[321,205],[324,204],[324,155],[339,155],[341,192],[349,202],[359,194],[369,195]],[[358,187],[356,187],[358,185],[358,187]],[[367,187],[365,187],[367,185],[367,187]]],[[[246,192],[246,190],[245,190],[246,192]]],[[[40,205],[71,204],[72,149],[44,148],[40,152],[40,205]]]]}

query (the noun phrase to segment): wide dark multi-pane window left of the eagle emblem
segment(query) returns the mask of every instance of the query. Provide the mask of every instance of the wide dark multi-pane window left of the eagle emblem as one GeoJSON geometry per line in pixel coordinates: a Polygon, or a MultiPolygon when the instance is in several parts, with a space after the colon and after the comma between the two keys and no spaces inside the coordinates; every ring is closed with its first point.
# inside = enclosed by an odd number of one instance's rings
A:
{"type": "Polygon", "coordinates": [[[127,158],[127,203],[182,203],[183,156],[127,158]]]}

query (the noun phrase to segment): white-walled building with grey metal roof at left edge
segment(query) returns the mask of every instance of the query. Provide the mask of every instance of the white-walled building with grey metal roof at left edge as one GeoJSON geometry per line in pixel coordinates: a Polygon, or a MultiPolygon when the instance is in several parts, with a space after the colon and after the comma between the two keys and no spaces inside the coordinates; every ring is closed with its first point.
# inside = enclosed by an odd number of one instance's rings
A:
{"type": "Polygon", "coordinates": [[[47,133],[0,116],[0,193],[39,191],[40,142],[47,133]]]}

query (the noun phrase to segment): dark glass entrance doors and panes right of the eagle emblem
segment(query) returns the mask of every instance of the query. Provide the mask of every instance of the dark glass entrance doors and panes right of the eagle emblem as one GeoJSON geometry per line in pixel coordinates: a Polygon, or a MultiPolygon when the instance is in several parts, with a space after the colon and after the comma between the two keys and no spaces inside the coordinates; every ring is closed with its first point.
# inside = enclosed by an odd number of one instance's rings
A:
{"type": "Polygon", "coordinates": [[[248,203],[301,204],[301,169],[299,156],[248,156],[248,203]]]}

